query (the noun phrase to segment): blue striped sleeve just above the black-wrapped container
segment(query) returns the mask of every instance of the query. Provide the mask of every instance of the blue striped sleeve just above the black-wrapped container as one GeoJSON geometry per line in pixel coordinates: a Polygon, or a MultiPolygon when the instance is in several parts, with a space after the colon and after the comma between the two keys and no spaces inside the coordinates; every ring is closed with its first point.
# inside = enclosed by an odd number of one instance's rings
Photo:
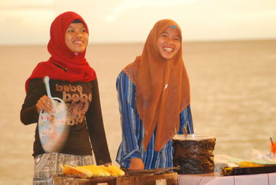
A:
{"type": "Polygon", "coordinates": [[[179,132],[177,134],[184,134],[183,128],[186,128],[188,134],[194,133],[193,118],[190,111],[190,105],[188,105],[179,115],[179,132]]]}

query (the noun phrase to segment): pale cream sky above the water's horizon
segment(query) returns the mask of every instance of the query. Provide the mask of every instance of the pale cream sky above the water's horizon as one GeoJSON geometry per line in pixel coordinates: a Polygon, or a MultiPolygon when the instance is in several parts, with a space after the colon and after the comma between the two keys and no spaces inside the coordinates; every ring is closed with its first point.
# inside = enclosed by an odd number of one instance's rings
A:
{"type": "Polygon", "coordinates": [[[86,21],[89,43],[144,42],[160,19],[176,21],[184,41],[276,39],[275,0],[1,0],[0,45],[48,43],[66,11],[86,21]]]}

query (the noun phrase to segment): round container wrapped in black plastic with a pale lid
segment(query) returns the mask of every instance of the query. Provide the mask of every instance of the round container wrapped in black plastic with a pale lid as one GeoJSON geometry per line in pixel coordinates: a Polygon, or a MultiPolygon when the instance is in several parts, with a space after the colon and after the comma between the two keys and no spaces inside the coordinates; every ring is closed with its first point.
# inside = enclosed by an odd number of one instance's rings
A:
{"type": "Polygon", "coordinates": [[[180,166],[177,173],[212,173],[215,169],[215,140],[211,135],[175,135],[172,138],[173,166],[180,166]]]}

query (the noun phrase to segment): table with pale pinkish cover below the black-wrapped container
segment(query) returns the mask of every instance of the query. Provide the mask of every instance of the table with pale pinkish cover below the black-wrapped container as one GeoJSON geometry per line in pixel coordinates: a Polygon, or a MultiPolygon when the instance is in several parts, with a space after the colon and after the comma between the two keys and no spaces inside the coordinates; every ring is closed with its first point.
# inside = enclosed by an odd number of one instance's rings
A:
{"type": "Polygon", "coordinates": [[[276,173],[255,175],[220,176],[219,172],[178,175],[179,185],[272,185],[276,184],[276,173]]]}

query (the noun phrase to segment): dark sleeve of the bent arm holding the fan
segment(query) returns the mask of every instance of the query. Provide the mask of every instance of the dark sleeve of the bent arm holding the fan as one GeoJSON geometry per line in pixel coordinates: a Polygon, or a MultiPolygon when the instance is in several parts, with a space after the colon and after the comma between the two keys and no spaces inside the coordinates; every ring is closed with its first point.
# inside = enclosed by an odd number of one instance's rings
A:
{"type": "Polygon", "coordinates": [[[20,112],[21,122],[25,125],[37,123],[39,113],[37,113],[37,101],[46,95],[46,88],[42,79],[31,79],[28,91],[20,112]]]}

